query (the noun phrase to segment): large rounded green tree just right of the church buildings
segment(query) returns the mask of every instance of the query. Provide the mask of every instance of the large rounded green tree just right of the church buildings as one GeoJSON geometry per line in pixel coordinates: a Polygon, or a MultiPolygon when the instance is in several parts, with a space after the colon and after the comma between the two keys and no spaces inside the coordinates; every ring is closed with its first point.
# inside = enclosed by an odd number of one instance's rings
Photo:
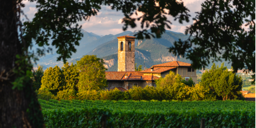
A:
{"type": "Polygon", "coordinates": [[[202,75],[199,84],[209,89],[209,93],[215,95],[218,100],[239,99],[243,87],[242,77],[228,71],[223,65],[222,63],[219,67],[213,64],[212,68],[202,75]]]}

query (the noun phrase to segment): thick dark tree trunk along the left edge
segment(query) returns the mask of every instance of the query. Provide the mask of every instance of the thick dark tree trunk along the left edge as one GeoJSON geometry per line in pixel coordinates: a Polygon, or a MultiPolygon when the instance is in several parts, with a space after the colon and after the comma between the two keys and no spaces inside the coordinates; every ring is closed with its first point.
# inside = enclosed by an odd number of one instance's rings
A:
{"type": "Polygon", "coordinates": [[[41,107],[32,89],[32,82],[21,90],[12,89],[19,77],[13,74],[16,55],[21,55],[17,32],[17,0],[0,0],[0,128],[41,128],[41,107]]]}

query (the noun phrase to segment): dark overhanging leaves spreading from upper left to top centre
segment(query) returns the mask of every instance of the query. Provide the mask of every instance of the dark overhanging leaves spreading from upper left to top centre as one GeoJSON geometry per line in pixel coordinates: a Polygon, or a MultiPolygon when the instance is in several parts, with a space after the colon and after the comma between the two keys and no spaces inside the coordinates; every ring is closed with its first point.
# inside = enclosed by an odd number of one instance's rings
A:
{"type": "MultiPolygon", "coordinates": [[[[35,0],[30,0],[35,1],[35,0]]],[[[160,37],[164,33],[165,27],[170,28],[171,22],[167,20],[166,15],[171,15],[182,23],[184,20],[188,22],[188,9],[183,3],[176,0],[38,0],[37,13],[31,22],[25,22],[24,39],[27,42],[26,48],[31,46],[32,39],[39,46],[52,45],[60,54],[57,60],[66,62],[70,58],[72,52],[76,52],[75,45],[79,45],[78,41],[83,36],[80,32],[81,26],[78,21],[89,20],[90,16],[97,15],[101,9],[101,5],[111,6],[111,9],[122,11],[124,13],[124,27],[136,27],[135,21],[141,20],[141,31],[137,33],[138,39],[160,37]],[[139,18],[132,18],[131,15],[137,15],[136,10],[143,13],[139,18]],[[154,10],[154,11],[152,11],[154,10]],[[165,11],[164,11],[165,10],[165,11]],[[152,25],[149,25],[152,24],[152,25]],[[147,29],[150,28],[151,32],[147,29]]],[[[48,49],[49,50],[49,49],[48,49]]],[[[45,49],[38,49],[40,54],[45,49]]]]}

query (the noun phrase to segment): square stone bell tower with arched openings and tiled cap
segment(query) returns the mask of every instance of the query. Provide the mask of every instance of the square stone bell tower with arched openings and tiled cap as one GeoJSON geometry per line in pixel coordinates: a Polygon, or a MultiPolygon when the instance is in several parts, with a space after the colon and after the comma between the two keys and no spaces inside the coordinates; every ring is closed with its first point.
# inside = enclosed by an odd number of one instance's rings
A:
{"type": "Polygon", "coordinates": [[[118,39],[118,71],[135,71],[135,38],[120,36],[118,39]]]}

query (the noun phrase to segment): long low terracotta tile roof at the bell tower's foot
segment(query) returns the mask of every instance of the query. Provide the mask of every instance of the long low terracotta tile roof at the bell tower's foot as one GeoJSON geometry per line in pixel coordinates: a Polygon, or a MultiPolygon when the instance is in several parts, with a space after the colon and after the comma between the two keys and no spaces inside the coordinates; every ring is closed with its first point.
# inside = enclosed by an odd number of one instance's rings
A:
{"type": "Polygon", "coordinates": [[[140,73],[138,71],[134,72],[106,72],[106,79],[107,80],[143,80],[143,81],[154,81],[155,79],[158,79],[156,76],[144,76],[143,73],[140,73]],[[127,77],[125,78],[125,74],[127,74],[127,77]]]}

